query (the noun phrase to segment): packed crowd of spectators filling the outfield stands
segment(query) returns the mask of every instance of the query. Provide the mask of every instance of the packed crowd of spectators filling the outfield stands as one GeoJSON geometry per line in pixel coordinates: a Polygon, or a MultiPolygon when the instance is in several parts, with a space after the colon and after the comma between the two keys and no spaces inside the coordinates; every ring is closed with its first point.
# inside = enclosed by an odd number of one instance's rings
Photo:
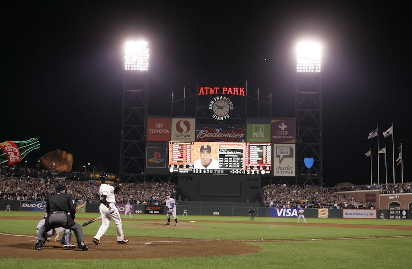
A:
{"type": "MultiPolygon", "coordinates": [[[[26,170],[27,171],[27,170],[26,170]]],[[[32,173],[33,170],[30,170],[32,173]]],[[[13,173],[0,171],[0,199],[7,200],[46,200],[54,194],[55,186],[65,183],[77,202],[98,203],[98,180],[68,180],[54,178],[47,172],[39,172],[35,176],[17,176],[13,173]]],[[[115,185],[117,185],[115,183],[115,185]]],[[[165,181],[145,181],[122,184],[116,195],[118,203],[132,204],[163,204],[167,193],[176,197],[177,185],[165,181]]],[[[412,193],[412,182],[388,183],[380,185],[346,185],[336,187],[321,187],[317,185],[285,185],[269,184],[262,187],[264,203],[268,207],[297,207],[306,208],[372,208],[373,204],[355,200],[339,191],[380,189],[382,194],[412,193]]]]}

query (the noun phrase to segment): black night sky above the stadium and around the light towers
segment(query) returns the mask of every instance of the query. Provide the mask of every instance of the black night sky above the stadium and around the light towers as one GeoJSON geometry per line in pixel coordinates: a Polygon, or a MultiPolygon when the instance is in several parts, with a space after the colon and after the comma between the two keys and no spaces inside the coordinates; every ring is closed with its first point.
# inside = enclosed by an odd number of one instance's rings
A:
{"type": "MultiPolygon", "coordinates": [[[[315,38],[324,46],[324,185],[370,183],[370,148],[377,182],[377,139],[367,139],[377,126],[393,182],[392,137],[382,136],[392,123],[395,160],[403,143],[404,181],[411,181],[406,3],[139,2],[3,4],[0,140],[37,137],[41,147],[26,157],[28,166],[61,149],[74,155],[74,171],[90,162],[119,172],[123,45],[130,37],[149,43],[150,115],[168,115],[172,90],[194,94],[197,81],[242,87],[247,80],[261,96],[272,92],[274,117],[295,116],[293,49],[298,40],[315,38]]],[[[401,165],[395,173],[400,182],[401,165]]]]}

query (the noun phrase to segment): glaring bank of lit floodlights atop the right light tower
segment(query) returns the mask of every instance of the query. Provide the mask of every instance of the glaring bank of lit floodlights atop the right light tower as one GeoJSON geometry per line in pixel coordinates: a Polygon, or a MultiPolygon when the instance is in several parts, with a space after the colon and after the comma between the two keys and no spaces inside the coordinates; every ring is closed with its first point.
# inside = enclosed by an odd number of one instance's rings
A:
{"type": "Polygon", "coordinates": [[[320,73],[322,46],[316,42],[299,42],[296,46],[296,72],[320,73]]]}

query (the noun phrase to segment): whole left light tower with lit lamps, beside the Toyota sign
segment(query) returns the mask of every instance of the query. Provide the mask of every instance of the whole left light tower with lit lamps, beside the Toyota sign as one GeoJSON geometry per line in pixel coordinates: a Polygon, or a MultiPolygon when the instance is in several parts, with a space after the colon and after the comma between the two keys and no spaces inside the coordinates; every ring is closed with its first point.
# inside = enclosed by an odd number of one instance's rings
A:
{"type": "Polygon", "coordinates": [[[120,137],[121,182],[144,181],[146,118],[149,87],[149,49],[146,41],[125,44],[122,129],[120,137]]]}

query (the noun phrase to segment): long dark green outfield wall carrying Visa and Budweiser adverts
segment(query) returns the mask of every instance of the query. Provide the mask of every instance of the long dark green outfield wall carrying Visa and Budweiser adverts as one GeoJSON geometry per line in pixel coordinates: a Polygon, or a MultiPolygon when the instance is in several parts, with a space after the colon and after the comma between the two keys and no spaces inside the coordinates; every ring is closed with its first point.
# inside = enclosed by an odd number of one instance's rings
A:
{"type": "MultiPolygon", "coordinates": [[[[8,201],[0,200],[0,209],[5,210],[9,204],[11,211],[40,211],[46,212],[45,201],[8,201]]],[[[116,204],[119,211],[124,216],[125,204],[116,204]]],[[[82,212],[99,213],[98,203],[79,203],[76,216],[81,216],[82,212]]],[[[187,209],[188,216],[244,216],[249,219],[250,206],[217,206],[217,205],[178,205],[177,217],[183,215],[183,210],[187,209]]],[[[273,218],[297,218],[298,208],[275,208],[275,207],[255,207],[255,217],[273,218]]],[[[385,219],[412,219],[412,209],[379,210],[379,209],[329,209],[329,208],[306,208],[306,218],[359,218],[359,219],[379,219],[384,213],[385,219]]],[[[165,215],[166,210],[163,205],[133,205],[133,216],[138,218],[139,214],[165,215]]],[[[185,219],[187,217],[185,216],[185,219]]]]}

